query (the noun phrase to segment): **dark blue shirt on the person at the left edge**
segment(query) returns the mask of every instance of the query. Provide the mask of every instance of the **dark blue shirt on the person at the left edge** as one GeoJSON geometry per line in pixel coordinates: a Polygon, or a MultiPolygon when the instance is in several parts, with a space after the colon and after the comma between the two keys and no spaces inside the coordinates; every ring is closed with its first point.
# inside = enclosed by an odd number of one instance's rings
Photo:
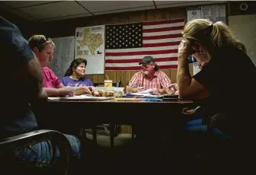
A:
{"type": "Polygon", "coordinates": [[[0,138],[5,138],[37,128],[34,113],[30,110],[30,104],[23,94],[26,82],[15,79],[18,71],[21,72],[27,62],[34,59],[34,53],[18,27],[2,17],[0,17],[0,38],[2,64],[0,138]]]}

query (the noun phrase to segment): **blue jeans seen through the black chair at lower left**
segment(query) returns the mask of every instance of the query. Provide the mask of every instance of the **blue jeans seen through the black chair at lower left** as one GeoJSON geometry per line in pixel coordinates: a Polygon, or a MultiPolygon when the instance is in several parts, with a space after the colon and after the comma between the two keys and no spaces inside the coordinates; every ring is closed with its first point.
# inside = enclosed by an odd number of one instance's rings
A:
{"type": "MultiPolygon", "coordinates": [[[[72,147],[72,154],[76,159],[82,157],[82,144],[80,140],[74,135],[65,135],[68,138],[69,143],[72,147]]],[[[15,155],[21,159],[21,161],[30,163],[40,164],[50,164],[53,158],[53,149],[50,141],[40,142],[36,145],[31,145],[26,148],[19,148],[16,150],[15,155]]],[[[59,149],[56,147],[56,159],[60,157],[59,149]]]]}

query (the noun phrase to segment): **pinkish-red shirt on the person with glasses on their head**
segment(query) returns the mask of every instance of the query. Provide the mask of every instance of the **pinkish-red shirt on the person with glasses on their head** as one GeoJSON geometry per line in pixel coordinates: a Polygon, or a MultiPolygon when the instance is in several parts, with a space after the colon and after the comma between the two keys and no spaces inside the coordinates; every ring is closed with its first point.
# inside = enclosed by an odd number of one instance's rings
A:
{"type": "Polygon", "coordinates": [[[61,84],[59,78],[54,74],[54,72],[47,67],[43,68],[43,87],[53,87],[55,88],[61,84]]]}

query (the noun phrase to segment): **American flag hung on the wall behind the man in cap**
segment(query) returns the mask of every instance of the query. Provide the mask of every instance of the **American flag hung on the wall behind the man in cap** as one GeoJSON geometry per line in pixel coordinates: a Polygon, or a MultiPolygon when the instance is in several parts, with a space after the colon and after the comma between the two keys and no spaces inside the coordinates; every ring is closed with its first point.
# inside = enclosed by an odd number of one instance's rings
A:
{"type": "Polygon", "coordinates": [[[178,67],[178,45],[184,18],[106,25],[105,70],[140,70],[144,56],[153,56],[160,69],[178,67]]]}

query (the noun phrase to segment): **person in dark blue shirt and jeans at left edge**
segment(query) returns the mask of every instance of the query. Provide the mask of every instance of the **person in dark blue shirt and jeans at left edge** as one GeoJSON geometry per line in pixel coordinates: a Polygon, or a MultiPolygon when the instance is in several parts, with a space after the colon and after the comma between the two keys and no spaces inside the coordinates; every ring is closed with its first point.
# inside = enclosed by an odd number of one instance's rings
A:
{"type": "MultiPolygon", "coordinates": [[[[30,106],[40,104],[47,99],[43,91],[43,75],[40,63],[30,49],[27,40],[14,24],[0,16],[0,47],[2,68],[2,110],[0,122],[0,139],[30,132],[37,129],[37,120],[30,106]]],[[[72,146],[72,154],[82,157],[82,145],[73,135],[66,135],[72,146]]],[[[49,141],[19,148],[14,154],[22,161],[36,164],[50,164],[53,148],[49,141]]],[[[56,158],[59,158],[56,148],[56,158]]]]}

